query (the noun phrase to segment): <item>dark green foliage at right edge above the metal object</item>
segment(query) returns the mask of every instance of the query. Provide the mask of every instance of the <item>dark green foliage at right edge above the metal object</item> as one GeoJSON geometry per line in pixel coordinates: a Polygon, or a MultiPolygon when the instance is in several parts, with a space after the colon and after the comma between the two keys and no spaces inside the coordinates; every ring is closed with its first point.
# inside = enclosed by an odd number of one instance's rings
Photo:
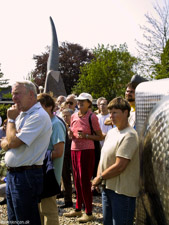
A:
{"type": "Polygon", "coordinates": [[[156,79],[169,78],[169,40],[161,54],[161,63],[155,65],[156,79]]]}

